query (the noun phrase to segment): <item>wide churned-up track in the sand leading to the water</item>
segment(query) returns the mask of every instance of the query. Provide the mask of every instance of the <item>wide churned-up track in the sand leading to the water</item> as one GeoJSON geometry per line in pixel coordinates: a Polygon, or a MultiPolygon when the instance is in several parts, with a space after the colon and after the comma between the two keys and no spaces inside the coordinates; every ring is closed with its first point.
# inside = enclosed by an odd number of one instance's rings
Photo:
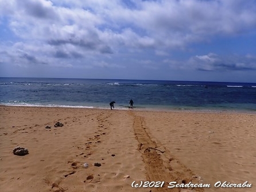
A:
{"type": "Polygon", "coordinates": [[[141,153],[146,167],[146,178],[148,181],[165,181],[163,187],[150,188],[150,191],[204,191],[204,188],[168,188],[169,182],[177,183],[201,183],[200,180],[178,159],[171,155],[170,151],[161,145],[160,142],[154,142],[146,128],[143,117],[135,115],[129,111],[133,117],[133,130],[135,139],[138,140],[138,151],[141,153]],[[160,150],[161,148],[161,150],[160,150]],[[162,148],[164,150],[162,150],[162,148]]]}

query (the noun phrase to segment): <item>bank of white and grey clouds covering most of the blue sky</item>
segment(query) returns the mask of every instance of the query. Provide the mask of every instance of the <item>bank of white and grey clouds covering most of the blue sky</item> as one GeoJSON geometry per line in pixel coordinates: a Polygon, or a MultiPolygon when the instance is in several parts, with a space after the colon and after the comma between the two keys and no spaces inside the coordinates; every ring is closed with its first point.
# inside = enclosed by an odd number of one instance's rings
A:
{"type": "Polygon", "coordinates": [[[169,60],[177,68],[255,70],[250,53],[191,48],[255,33],[255,18],[254,0],[0,0],[1,63],[127,68],[132,57],[152,69],[169,60]],[[191,55],[177,59],[173,52],[191,55]]]}

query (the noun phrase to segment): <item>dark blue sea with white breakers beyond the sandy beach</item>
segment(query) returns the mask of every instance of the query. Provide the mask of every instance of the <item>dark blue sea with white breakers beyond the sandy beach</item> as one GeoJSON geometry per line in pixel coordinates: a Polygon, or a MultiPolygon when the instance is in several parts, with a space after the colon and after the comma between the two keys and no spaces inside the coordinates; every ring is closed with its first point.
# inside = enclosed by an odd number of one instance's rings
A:
{"type": "Polygon", "coordinates": [[[0,78],[0,104],[256,112],[256,83],[0,78]]]}

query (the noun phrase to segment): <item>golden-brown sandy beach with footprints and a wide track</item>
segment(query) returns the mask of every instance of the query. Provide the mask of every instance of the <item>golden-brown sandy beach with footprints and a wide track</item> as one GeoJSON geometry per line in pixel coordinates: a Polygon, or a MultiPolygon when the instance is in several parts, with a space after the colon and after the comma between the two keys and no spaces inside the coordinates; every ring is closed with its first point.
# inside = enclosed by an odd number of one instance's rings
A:
{"type": "Polygon", "coordinates": [[[5,106],[0,113],[0,191],[256,191],[255,113],[5,106]],[[14,155],[17,146],[29,154],[14,155]],[[134,181],[164,185],[134,188],[134,181]],[[211,187],[168,188],[174,181],[211,187]],[[218,181],[253,186],[216,188],[218,181]]]}

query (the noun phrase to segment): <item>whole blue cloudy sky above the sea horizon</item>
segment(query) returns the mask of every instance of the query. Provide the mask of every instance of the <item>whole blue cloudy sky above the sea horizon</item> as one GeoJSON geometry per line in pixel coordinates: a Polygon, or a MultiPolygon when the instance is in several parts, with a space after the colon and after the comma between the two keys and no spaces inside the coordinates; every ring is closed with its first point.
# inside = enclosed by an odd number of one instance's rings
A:
{"type": "Polygon", "coordinates": [[[0,77],[256,83],[256,0],[0,0],[0,77]]]}

